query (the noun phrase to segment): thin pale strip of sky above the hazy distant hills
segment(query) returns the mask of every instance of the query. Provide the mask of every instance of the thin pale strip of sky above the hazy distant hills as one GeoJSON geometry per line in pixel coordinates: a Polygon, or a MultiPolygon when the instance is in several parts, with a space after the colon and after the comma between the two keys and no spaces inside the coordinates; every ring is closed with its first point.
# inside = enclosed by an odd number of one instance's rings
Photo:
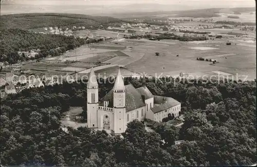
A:
{"type": "Polygon", "coordinates": [[[163,4],[163,5],[191,5],[197,8],[222,8],[222,7],[255,7],[255,1],[253,0],[3,0],[3,4],[33,4],[33,5],[108,5],[108,6],[120,6],[120,5],[130,5],[130,4],[163,4]],[[61,2],[61,3],[60,3],[61,2]]]}

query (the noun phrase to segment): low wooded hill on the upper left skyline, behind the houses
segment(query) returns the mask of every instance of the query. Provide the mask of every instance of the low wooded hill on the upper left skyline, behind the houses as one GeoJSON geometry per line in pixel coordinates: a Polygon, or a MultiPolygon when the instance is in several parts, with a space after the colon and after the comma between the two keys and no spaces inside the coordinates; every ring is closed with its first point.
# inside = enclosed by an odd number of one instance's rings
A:
{"type": "Polygon", "coordinates": [[[3,29],[35,29],[42,27],[71,27],[85,26],[85,28],[106,27],[108,24],[120,23],[118,18],[107,16],[90,16],[83,14],[64,13],[29,13],[9,14],[1,16],[1,30],[3,29]]]}

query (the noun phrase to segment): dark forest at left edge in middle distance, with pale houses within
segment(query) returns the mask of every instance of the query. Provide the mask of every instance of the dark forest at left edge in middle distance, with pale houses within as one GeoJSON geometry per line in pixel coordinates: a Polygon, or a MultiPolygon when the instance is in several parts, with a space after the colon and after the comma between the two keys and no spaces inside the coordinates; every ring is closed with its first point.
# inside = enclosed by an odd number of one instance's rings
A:
{"type": "Polygon", "coordinates": [[[39,54],[35,58],[46,57],[49,54],[58,56],[67,50],[75,49],[84,44],[98,43],[102,39],[79,38],[56,34],[35,34],[22,29],[5,29],[1,31],[0,38],[0,61],[8,61],[15,64],[17,61],[28,60],[25,54],[18,54],[19,51],[35,50],[39,54]]]}

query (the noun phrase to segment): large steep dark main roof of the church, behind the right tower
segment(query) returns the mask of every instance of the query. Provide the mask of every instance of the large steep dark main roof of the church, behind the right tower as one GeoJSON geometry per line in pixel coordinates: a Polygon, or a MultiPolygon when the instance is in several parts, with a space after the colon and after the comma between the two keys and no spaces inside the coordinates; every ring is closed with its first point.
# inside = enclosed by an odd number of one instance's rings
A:
{"type": "MultiPolygon", "coordinates": [[[[100,106],[104,101],[109,101],[109,108],[113,108],[113,89],[109,91],[101,100],[100,106]]],[[[125,86],[125,107],[126,112],[145,106],[141,94],[133,87],[133,85],[125,86]]]]}

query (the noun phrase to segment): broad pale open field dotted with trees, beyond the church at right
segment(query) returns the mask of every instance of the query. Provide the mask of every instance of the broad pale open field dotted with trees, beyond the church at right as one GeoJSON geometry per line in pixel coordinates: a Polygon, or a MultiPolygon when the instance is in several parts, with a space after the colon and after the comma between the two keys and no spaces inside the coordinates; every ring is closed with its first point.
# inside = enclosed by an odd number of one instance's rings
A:
{"type": "MultiPolygon", "coordinates": [[[[126,41],[131,40],[128,39],[126,41]]],[[[126,42],[125,41],[125,42],[126,42]]],[[[140,41],[140,40],[139,40],[140,41]]],[[[166,40],[167,41],[167,40],[166,40]]],[[[171,40],[172,42],[174,40],[171,40]]],[[[149,44],[145,41],[146,44],[149,44]]],[[[175,41],[169,47],[158,45],[155,48],[144,48],[144,44],[138,47],[133,46],[132,52],[144,53],[144,56],[125,67],[139,73],[147,73],[152,76],[171,75],[178,76],[179,72],[184,73],[208,73],[212,71],[223,71],[235,75],[250,75],[248,79],[256,78],[256,48],[240,45],[226,45],[225,39],[217,41],[186,42],[175,41]],[[200,48],[217,48],[213,50],[197,50],[200,48]],[[160,56],[156,56],[159,52],[160,56]],[[176,55],[179,55],[178,57],[176,55]],[[196,57],[216,59],[216,64],[209,61],[197,61],[196,57]],[[227,57],[227,59],[225,58],[227,57]]]]}

